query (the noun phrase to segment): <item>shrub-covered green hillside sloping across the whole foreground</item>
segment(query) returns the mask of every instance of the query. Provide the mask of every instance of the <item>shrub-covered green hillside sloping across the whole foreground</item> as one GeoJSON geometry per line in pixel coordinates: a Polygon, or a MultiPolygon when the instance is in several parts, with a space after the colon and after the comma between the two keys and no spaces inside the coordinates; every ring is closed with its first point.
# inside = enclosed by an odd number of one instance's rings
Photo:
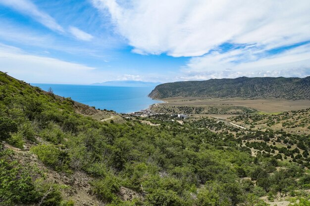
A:
{"type": "Polygon", "coordinates": [[[309,135],[215,133],[208,124],[220,124],[169,115],[102,122],[96,111],[0,73],[0,206],[310,204],[309,135]]]}

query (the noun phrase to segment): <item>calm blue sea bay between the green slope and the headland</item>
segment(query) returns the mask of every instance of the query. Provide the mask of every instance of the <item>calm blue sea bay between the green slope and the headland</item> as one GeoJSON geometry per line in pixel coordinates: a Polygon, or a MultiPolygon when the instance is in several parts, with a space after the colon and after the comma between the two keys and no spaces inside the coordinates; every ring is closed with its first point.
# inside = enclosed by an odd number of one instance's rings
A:
{"type": "Polygon", "coordinates": [[[137,112],[160,101],[148,97],[153,87],[118,87],[73,84],[32,83],[43,90],[52,87],[54,94],[95,106],[96,109],[114,110],[118,113],[137,112]]]}

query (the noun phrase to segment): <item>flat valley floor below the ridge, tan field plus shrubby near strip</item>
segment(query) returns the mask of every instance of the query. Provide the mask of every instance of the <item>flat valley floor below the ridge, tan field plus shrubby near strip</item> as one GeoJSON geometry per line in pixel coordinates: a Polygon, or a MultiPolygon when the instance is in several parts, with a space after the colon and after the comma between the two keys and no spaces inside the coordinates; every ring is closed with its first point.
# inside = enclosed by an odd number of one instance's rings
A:
{"type": "Polygon", "coordinates": [[[157,113],[195,115],[277,114],[310,107],[310,100],[172,97],[152,106],[157,113]]]}

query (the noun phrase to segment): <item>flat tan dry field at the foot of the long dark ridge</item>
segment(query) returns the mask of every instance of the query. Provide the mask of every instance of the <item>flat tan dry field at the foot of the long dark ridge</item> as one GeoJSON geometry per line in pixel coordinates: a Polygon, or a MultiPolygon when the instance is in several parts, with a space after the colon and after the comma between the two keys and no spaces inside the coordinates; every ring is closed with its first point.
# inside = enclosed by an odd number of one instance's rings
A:
{"type": "Polygon", "coordinates": [[[193,97],[175,97],[162,99],[165,103],[158,104],[157,107],[163,106],[188,106],[188,107],[223,107],[239,106],[252,108],[264,113],[277,113],[292,110],[301,110],[310,107],[310,100],[285,100],[285,99],[202,99],[193,97]]]}

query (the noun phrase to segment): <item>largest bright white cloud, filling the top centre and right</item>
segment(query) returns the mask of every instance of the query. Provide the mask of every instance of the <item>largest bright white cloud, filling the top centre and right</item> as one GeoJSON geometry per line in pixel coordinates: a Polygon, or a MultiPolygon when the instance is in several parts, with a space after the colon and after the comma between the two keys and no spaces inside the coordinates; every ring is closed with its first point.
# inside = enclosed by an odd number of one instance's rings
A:
{"type": "Polygon", "coordinates": [[[200,56],[224,42],[265,48],[310,39],[309,0],[93,0],[141,54],[200,56]]]}

